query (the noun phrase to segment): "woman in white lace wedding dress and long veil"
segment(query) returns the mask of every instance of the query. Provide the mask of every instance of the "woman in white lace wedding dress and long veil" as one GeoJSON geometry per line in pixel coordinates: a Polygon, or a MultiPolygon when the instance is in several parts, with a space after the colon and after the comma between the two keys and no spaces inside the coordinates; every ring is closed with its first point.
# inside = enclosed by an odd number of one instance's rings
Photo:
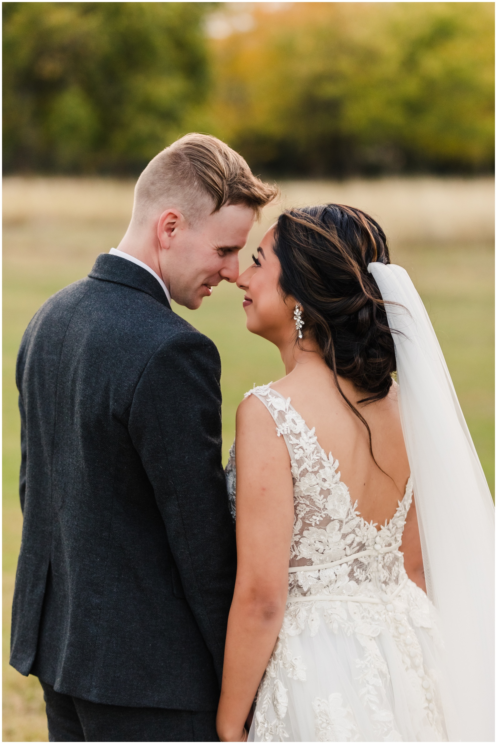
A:
{"type": "Polygon", "coordinates": [[[247,393],[227,466],[221,741],[493,740],[493,504],[409,277],[328,205],[284,213],[238,286],[287,375],[247,393]]]}

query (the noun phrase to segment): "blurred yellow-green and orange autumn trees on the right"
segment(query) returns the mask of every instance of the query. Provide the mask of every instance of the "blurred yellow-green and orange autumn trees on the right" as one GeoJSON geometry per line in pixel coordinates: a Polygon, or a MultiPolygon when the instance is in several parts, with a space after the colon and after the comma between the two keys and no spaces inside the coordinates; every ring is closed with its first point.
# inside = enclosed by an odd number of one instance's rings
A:
{"type": "Polygon", "coordinates": [[[213,45],[218,132],[253,166],[492,167],[492,3],[288,5],[213,45]]]}

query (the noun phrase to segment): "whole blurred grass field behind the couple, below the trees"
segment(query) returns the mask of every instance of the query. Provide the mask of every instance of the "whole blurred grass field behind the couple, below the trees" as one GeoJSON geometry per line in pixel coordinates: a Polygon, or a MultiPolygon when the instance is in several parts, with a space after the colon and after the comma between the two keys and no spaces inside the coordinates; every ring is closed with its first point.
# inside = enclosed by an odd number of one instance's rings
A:
{"type": "MultiPolygon", "coordinates": [[[[465,193],[464,182],[425,179],[423,186],[420,179],[418,183],[382,183],[293,183],[283,190],[293,202],[336,199],[371,209],[386,225],[393,240],[392,260],[409,271],[432,318],[493,490],[492,185],[482,179],[473,182],[476,185],[465,193]],[[392,207],[392,199],[397,199],[397,208],[392,207]],[[443,207],[443,219],[434,199],[443,207]],[[464,222],[461,211],[468,199],[472,208],[464,222]],[[478,217],[479,232],[475,232],[470,228],[478,210],[483,217],[478,217]],[[384,220],[382,214],[386,214],[384,220]],[[403,221],[399,217],[402,214],[403,221]]],[[[38,681],[26,679],[8,666],[10,603],[22,529],[17,495],[16,352],[28,321],[45,299],[85,276],[97,254],[117,245],[126,229],[131,201],[132,187],[127,182],[4,182],[4,741],[48,740],[38,681]]],[[[269,210],[262,224],[254,228],[241,257],[242,266],[250,262],[253,247],[277,211],[269,210]]],[[[235,286],[223,283],[214,289],[198,311],[175,310],[210,336],[221,353],[226,461],[236,406],[254,383],[282,376],[282,362],[276,348],[245,330],[241,292],[235,286]]]]}

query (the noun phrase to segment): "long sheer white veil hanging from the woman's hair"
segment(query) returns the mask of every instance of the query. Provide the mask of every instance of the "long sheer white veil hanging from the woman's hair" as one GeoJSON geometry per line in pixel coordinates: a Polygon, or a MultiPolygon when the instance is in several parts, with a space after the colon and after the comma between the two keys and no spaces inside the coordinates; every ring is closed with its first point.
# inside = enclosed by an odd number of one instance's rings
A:
{"type": "Polygon", "coordinates": [[[449,741],[494,741],[494,507],[423,302],[401,266],[370,263],[395,344],[449,741]],[[392,304],[389,304],[392,303],[392,304]],[[398,333],[395,333],[397,331],[398,333]]]}

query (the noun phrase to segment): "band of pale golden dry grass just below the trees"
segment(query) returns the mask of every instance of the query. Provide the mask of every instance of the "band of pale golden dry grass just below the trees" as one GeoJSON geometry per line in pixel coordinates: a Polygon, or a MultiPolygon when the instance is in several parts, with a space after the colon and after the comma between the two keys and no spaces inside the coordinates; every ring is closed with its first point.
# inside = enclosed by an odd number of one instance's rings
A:
{"type": "MultiPolygon", "coordinates": [[[[134,182],[112,179],[4,179],[4,222],[33,219],[125,224],[134,182]]],[[[345,182],[282,182],[282,206],[337,202],[364,209],[386,229],[394,246],[493,243],[494,179],[386,178],[345,182]]],[[[262,227],[279,214],[264,213],[262,227]]]]}

